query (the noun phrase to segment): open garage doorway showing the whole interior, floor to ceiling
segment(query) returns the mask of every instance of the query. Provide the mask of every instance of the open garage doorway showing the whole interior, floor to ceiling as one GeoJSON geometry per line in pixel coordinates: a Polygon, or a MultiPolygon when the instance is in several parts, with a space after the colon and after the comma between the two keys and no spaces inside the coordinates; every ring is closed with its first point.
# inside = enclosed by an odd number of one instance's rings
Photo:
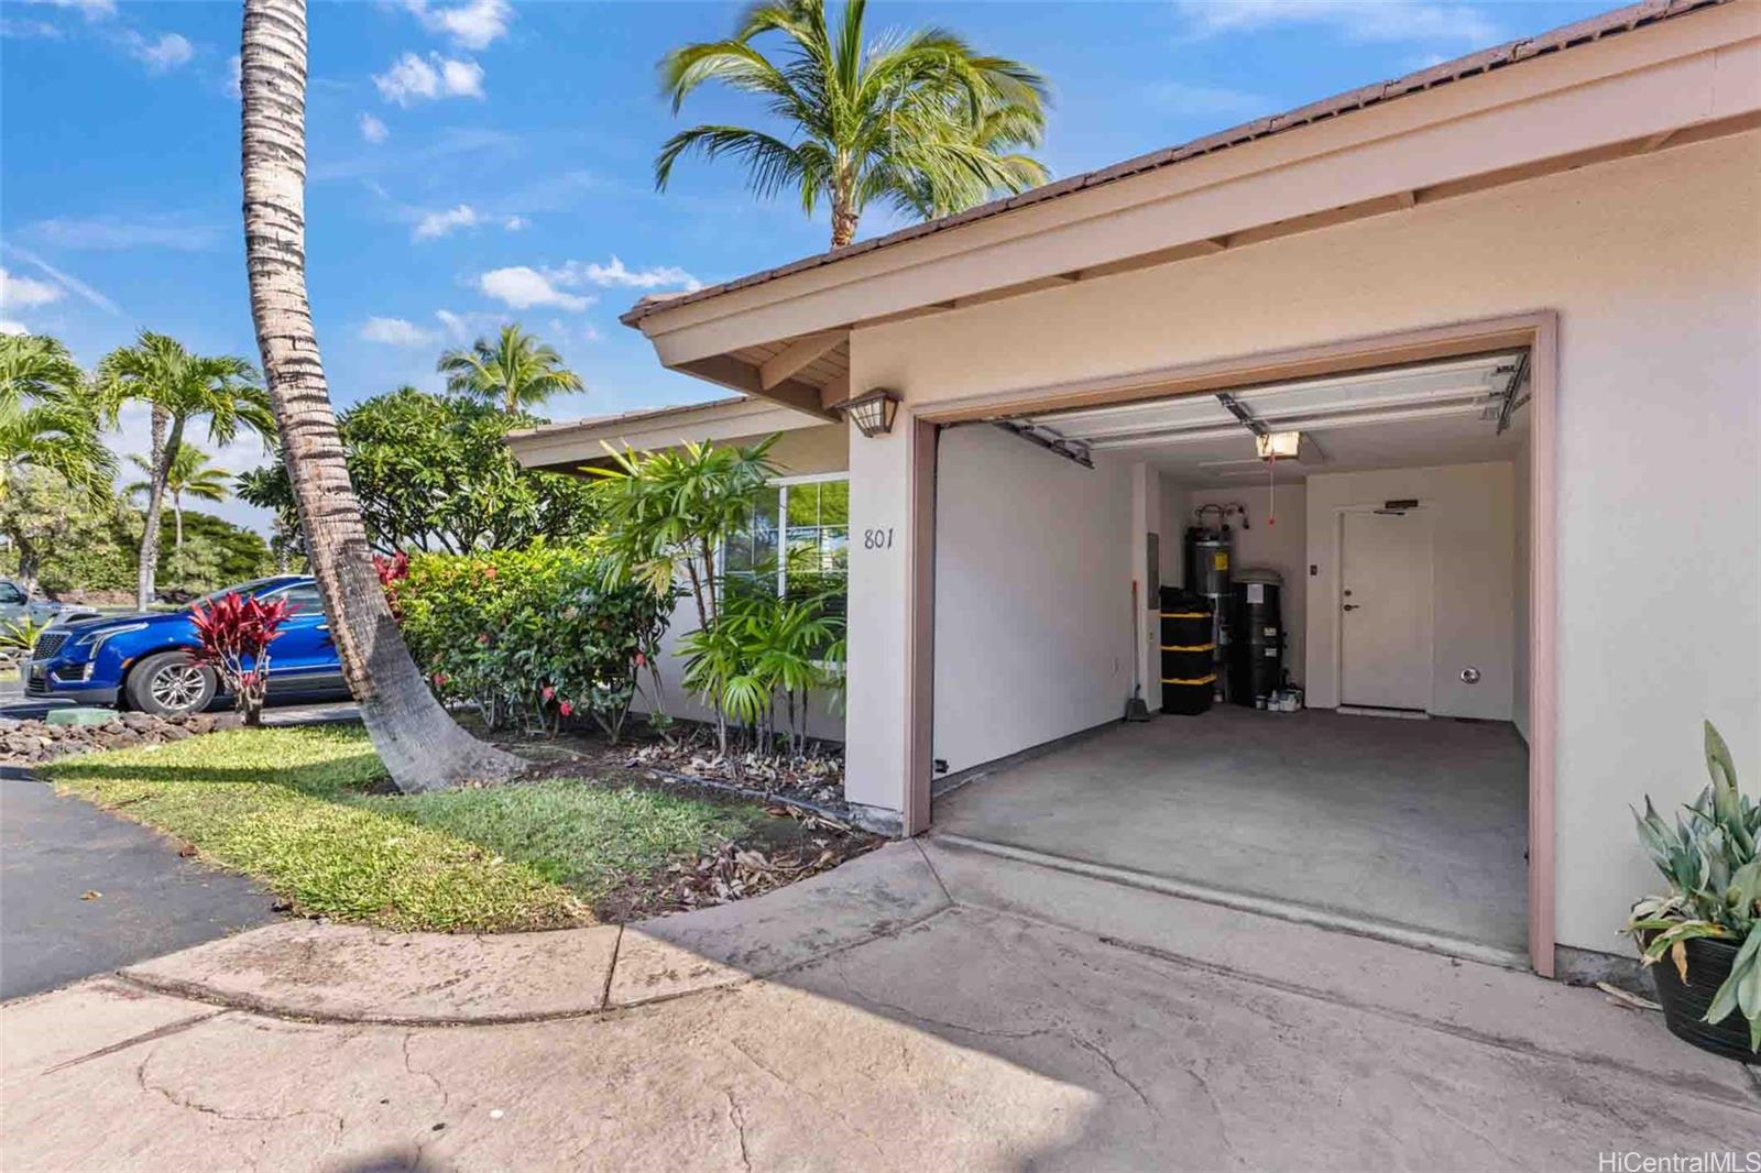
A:
{"type": "Polygon", "coordinates": [[[1527,387],[1509,349],[947,430],[933,831],[1525,963],[1527,387]]]}

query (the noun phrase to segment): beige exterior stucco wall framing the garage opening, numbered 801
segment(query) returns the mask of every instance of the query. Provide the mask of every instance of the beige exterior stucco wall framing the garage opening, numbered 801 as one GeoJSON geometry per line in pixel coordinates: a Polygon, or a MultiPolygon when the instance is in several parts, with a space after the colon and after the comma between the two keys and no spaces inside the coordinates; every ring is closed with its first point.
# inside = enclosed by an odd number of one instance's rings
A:
{"type": "MultiPolygon", "coordinates": [[[[1655,886],[1627,803],[1692,796],[1701,717],[1761,777],[1757,144],[1750,132],[859,329],[851,386],[896,387],[909,416],[956,396],[1557,310],[1557,935],[1618,949],[1627,904],[1655,886]],[[1632,632],[1666,641],[1643,675],[1636,653],[1624,669],[1632,632]]],[[[852,440],[854,528],[903,525],[907,456],[900,433],[852,440]]],[[[870,671],[861,648],[900,646],[903,586],[900,562],[852,551],[858,673],[870,671]]],[[[880,724],[861,745],[852,727],[852,786],[898,807],[903,685],[895,668],[872,671],[880,724]]],[[[854,687],[852,712],[866,719],[854,687]]]]}

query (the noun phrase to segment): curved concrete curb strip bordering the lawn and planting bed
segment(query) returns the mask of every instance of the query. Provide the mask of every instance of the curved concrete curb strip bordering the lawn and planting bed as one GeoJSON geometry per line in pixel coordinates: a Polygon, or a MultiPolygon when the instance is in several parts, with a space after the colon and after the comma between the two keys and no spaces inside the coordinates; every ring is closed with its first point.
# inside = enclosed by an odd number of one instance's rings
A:
{"type": "Polygon", "coordinates": [[[923,851],[902,842],[764,896],[637,925],[451,935],[285,921],[116,978],[299,1022],[551,1022],[766,978],[903,932],[949,905],[923,851]]]}

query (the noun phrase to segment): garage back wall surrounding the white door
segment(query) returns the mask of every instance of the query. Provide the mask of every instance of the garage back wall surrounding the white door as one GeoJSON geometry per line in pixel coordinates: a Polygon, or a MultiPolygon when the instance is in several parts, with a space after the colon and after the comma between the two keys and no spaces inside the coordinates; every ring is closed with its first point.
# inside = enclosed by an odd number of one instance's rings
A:
{"type": "Polygon", "coordinates": [[[1432,696],[1440,717],[1511,719],[1514,472],[1509,461],[1308,477],[1308,705],[1338,697],[1338,530],[1347,509],[1416,497],[1432,514],[1432,696]],[[1477,668],[1479,683],[1462,680],[1477,668]]]}

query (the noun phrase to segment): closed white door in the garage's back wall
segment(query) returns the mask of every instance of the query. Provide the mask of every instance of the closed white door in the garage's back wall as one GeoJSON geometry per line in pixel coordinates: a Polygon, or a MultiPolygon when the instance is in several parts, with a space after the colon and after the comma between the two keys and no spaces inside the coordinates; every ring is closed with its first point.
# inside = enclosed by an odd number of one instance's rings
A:
{"type": "Polygon", "coordinates": [[[1430,708],[1432,525],[1423,509],[1344,516],[1338,602],[1340,703],[1430,708]]]}

